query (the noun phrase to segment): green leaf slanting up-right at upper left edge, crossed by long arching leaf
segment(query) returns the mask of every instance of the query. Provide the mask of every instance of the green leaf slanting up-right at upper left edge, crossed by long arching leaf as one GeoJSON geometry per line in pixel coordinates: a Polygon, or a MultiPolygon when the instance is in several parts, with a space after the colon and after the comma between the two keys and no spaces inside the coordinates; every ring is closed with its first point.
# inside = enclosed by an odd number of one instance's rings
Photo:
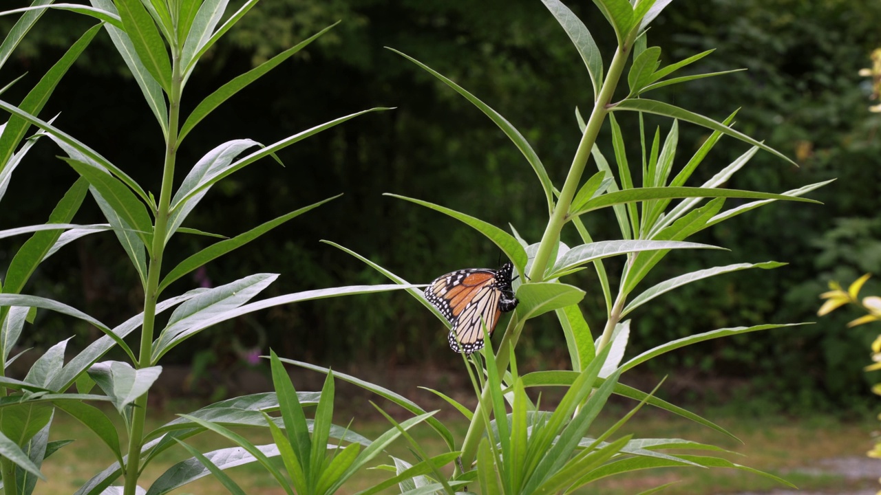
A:
{"type": "MultiPolygon", "coordinates": [[[[99,30],[100,25],[94,26],[92,29],[86,31],[79,40],[67,50],[61,59],[58,60],[48,72],[46,72],[46,75],[40,79],[40,82],[33,86],[33,89],[28,92],[25,99],[21,101],[19,108],[29,114],[39,114],[43,106],[46,105],[49,96],[55,90],[56,85],[58,85],[58,82],[61,81],[64,74],[70,69],[70,66],[76,62],[79,55],[83,53],[85,47],[89,46],[89,43],[93,40],[95,34],[97,34],[99,30]]],[[[16,146],[21,139],[25,137],[30,126],[30,123],[26,120],[15,116],[11,117],[9,122],[6,122],[3,134],[0,134],[0,171],[2,171],[4,166],[9,163],[12,154],[15,152],[16,146]]]]}

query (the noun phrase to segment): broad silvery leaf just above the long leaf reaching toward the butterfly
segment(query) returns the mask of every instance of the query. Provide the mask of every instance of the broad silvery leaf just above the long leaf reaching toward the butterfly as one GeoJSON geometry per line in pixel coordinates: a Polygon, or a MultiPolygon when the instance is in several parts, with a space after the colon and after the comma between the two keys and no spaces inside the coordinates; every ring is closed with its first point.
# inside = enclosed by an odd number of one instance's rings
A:
{"type": "Polygon", "coordinates": [[[195,332],[189,332],[189,329],[201,321],[210,320],[218,314],[241,307],[263,292],[263,289],[276,278],[278,278],[277,274],[257,273],[229,284],[212,287],[181,304],[174,310],[166,328],[162,329],[153,343],[151,364],[158,363],[159,358],[167,351],[171,351],[174,345],[180,344],[184,338],[195,335],[195,332]]]}

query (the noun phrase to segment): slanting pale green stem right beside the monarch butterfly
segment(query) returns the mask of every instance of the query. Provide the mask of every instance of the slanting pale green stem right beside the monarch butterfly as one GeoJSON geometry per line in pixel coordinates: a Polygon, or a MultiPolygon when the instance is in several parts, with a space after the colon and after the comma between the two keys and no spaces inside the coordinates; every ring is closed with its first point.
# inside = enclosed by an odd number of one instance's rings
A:
{"type": "MultiPolygon", "coordinates": [[[[559,233],[563,230],[563,225],[566,224],[566,215],[569,212],[575,191],[578,189],[581,175],[584,173],[584,167],[588,164],[590,150],[593,148],[594,143],[596,143],[596,136],[599,134],[600,128],[603,127],[605,116],[609,113],[608,106],[614,95],[615,87],[618,85],[618,79],[624,73],[624,67],[632,46],[633,41],[628,41],[624,46],[618,47],[618,51],[615,52],[615,56],[612,58],[609,71],[603,82],[603,88],[600,90],[600,94],[596,99],[596,105],[590,113],[588,124],[584,128],[584,134],[581,136],[581,143],[578,144],[578,150],[575,151],[575,157],[572,160],[572,166],[569,168],[569,174],[566,175],[566,182],[564,182],[563,188],[560,190],[557,205],[553,209],[551,219],[544,230],[541,244],[538,246],[536,257],[532,262],[532,269],[529,271],[529,283],[544,280],[544,272],[547,270],[551,253],[559,240],[559,233]]],[[[620,310],[618,311],[620,312],[620,310]]],[[[515,313],[507,324],[505,335],[502,336],[499,350],[496,352],[496,365],[500,375],[505,373],[507,369],[510,349],[517,344],[522,329],[523,325],[518,321],[515,313]]],[[[480,403],[485,403],[485,401],[489,400],[489,394],[489,388],[484,388],[480,403]]],[[[468,432],[465,433],[465,440],[463,440],[463,466],[470,466],[471,462],[474,462],[474,456],[478,452],[478,443],[483,434],[485,425],[484,416],[480,410],[480,403],[478,403],[478,407],[474,411],[474,417],[471,419],[468,432]]]]}

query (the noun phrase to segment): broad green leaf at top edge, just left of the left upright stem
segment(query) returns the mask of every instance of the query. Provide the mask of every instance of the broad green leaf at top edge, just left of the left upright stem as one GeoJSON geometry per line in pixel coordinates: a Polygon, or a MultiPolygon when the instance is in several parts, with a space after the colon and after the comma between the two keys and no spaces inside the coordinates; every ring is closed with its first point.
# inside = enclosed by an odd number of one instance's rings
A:
{"type": "Polygon", "coordinates": [[[115,0],[115,4],[138,58],[162,89],[171,92],[171,61],[150,13],[141,0],[115,0]]]}

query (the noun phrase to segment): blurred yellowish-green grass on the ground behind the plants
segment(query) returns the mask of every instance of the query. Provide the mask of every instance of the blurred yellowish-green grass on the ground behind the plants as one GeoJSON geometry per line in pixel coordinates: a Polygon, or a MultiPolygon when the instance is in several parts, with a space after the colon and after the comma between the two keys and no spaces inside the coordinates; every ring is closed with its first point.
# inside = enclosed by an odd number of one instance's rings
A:
{"type": "MultiPolygon", "coordinates": [[[[341,402],[339,399],[337,403],[341,402]]],[[[187,403],[172,403],[169,410],[189,411],[198,406],[187,403]]],[[[115,414],[108,410],[108,415],[115,414]]],[[[337,411],[336,423],[345,425],[350,412],[337,411]]],[[[733,462],[764,470],[776,476],[788,479],[804,491],[840,492],[845,488],[876,487],[874,480],[848,481],[843,477],[828,474],[811,475],[798,472],[796,469],[815,467],[818,461],[841,456],[862,456],[871,447],[870,431],[875,426],[870,422],[846,423],[833,417],[792,418],[782,416],[764,417],[716,417],[707,415],[723,427],[736,434],[744,444],[731,440],[721,434],[696,425],[686,419],[674,417],[662,411],[644,409],[625,426],[626,432],[638,432],[643,438],[683,438],[736,451],[729,456],[733,462]]],[[[148,417],[148,426],[152,429],[174,418],[171,413],[163,412],[159,417],[148,417]]],[[[601,417],[594,431],[611,425],[618,415],[610,414],[601,417]]],[[[458,441],[463,438],[467,424],[458,417],[445,419],[458,441]]],[[[371,417],[368,420],[356,421],[352,429],[375,438],[389,425],[381,418],[371,417]]],[[[122,427],[119,428],[124,434],[122,427]]],[[[256,444],[271,443],[270,435],[265,430],[242,429],[243,434],[256,444]]],[[[416,439],[426,448],[429,454],[440,454],[443,444],[440,437],[427,426],[419,426],[412,431],[416,439]]],[[[124,438],[124,437],[121,437],[124,438]]],[[[75,439],[77,441],[64,447],[54,454],[43,465],[43,473],[48,483],[37,484],[36,493],[72,493],[90,477],[105,469],[114,461],[113,456],[84,425],[66,416],[62,411],[56,412],[56,420],[52,428],[51,440],[75,439]]],[[[197,435],[188,440],[191,445],[203,452],[223,447],[230,447],[225,440],[210,433],[197,435]]],[[[403,441],[390,449],[389,454],[406,460],[412,460],[407,446],[403,441]]],[[[149,488],[152,481],[180,462],[187,456],[182,448],[169,449],[144,470],[141,485],[149,488]]],[[[389,462],[388,457],[380,457],[381,462],[389,462]]],[[[881,465],[879,465],[881,468],[881,465]]],[[[881,469],[879,469],[881,471],[881,469]]],[[[258,464],[252,463],[228,471],[251,495],[277,495],[284,493],[275,480],[258,464]]],[[[388,477],[388,473],[379,470],[366,470],[344,486],[343,494],[355,493],[388,477]]],[[[635,473],[626,477],[601,480],[588,488],[579,491],[582,495],[631,495],[659,484],[677,482],[665,492],[679,495],[705,495],[707,493],[737,493],[740,491],[771,491],[783,488],[764,477],[744,473],[735,469],[696,469],[673,468],[653,469],[635,473]]],[[[473,490],[473,488],[472,488],[473,490]]],[[[226,489],[212,477],[205,477],[195,483],[185,485],[173,491],[185,493],[226,493],[226,489]]]]}

